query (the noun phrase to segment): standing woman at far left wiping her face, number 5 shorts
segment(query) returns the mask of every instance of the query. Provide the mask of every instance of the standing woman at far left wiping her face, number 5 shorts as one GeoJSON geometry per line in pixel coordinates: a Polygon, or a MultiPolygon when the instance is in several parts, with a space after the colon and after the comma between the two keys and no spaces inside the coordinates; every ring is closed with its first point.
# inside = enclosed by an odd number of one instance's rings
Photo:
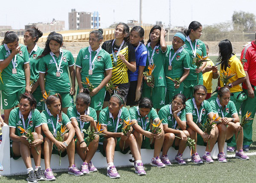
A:
{"type": "Polygon", "coordinates": [[[4,122],[8,124],[11,110],[19,103],[20,94],[31,92],[29,86],[29,54],[13,31],[7,31],[0,46],[0,90],[4,109],[4,122]]]}

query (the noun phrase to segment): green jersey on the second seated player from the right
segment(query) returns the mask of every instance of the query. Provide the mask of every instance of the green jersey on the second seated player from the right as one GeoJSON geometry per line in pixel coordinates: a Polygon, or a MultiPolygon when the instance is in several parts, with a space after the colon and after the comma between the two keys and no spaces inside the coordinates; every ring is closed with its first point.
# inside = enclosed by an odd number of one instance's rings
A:
{"type": "Polygon", "coordinates": [[[193,121],[196,124],[200,122],[199,118],[201,118],[201,123],[204,124],[208,118],[207,115],[209,113],[213,113],[211,104],[209,103],[209,101],[206,101],[206,100],[202,102],[200,109],[198,110],[195,104],[195,98],[189,99],[186,101],[185,110],[186,110],[186,114],[192,114],[193,121]]]}

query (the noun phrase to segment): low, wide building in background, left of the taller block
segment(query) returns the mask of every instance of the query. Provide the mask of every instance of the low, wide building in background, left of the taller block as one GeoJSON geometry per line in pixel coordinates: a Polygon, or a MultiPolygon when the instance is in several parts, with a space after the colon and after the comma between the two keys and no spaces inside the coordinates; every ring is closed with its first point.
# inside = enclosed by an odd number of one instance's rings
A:
{"type": "Polygon", "coordinates": [[[25,30],[32,27],[38,27],[38,29],[43,33],[52,31],[64,31],[65,21],[53,19],[51,23],[29,23],[28,25],[25,25],[25,30]]]}

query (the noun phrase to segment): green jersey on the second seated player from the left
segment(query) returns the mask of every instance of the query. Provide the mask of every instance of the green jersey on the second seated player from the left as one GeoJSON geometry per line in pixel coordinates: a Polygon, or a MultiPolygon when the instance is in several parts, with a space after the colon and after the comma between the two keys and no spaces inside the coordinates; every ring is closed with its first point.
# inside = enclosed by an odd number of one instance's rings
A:
{"type": "Polygon", "coordinates": [[[47,124],[49,131],[52,133],[52,135],[57,134],[58,131],[61,131],[62,125],[65,125],[67,127],[67,124],[71,123],[70,119],[65,113],[61,113],[61,116],[62,120],[58,118],[58,115],[56,116],[56,118],[54,118],[54,116],[50,113],[49,109],[44,110],[41,113],[42,125],[47,124]]]}

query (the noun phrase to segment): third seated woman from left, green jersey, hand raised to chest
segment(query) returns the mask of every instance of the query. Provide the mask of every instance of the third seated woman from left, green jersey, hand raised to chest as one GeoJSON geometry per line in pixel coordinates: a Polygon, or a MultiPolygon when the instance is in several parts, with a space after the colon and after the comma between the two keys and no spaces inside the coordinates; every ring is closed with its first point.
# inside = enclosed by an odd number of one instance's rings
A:
{"type": "Polygon", "coordinates": [[[96,131],[97,115],[95,109],[89,107],[90,105],[90,95],[87,88],[83,89],[82,93],[76,96],[76,106],[71,106],[67,110],[67,116],[70,118],[73,127],[76,130],[75,144],[76,152],[83,160],[81,165],[81,172],[83,174],[89,174],[90,172],[96,172],[97,169],[93,166],[91,159],[95,154],[98,143],[99,136],[97,135],[95,139],[91,142],[87,141],[87,134],[83,130],[93,129],[96,131]],[[90,143],[90,144],[89,144],[90,143]]]}

